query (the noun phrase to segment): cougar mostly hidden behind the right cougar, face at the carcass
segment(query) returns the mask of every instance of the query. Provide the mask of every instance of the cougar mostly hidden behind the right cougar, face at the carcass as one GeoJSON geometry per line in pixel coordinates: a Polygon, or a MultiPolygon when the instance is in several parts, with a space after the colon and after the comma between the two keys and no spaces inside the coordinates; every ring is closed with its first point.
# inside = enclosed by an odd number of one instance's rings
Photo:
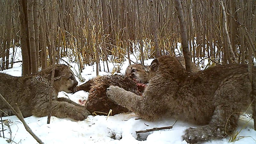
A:
{"type": "MultiPolygon", "coordinates": [[[[183,68],[186,69],[184,57],[179,56],[175,58],[179,60],[183,68]]],[[[191,71],[198,72],[201,70],[195,63],[191,61],[191,71]]],[[[149,81],[149,66],[143,66],[141,64],[132,64],[126,68],[125,75],[139,81],[140,83],[147,84],[149,81]]]]}

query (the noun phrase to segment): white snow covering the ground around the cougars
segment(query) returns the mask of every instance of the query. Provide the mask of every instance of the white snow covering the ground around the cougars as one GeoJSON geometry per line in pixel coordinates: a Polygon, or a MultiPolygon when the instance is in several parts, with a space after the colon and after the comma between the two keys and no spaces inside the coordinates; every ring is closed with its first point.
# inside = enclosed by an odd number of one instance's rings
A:
{"type": "MultiPolygon", "coordinates": [[[[65,60],[69,62],[68,59],[65,60]]],[[[134,57],[132,57],[132,60],[136,61],[134,57]]],[[[150,65],[151,61],[152,60],[146,60],[145,64],[150,65]]],[[[74,67],[71,68],[73,71],[78,71],[78,66],[75,63],[70,62],[70,64],[74,67]]],[[[109,63],[110,71],[113,69],[114,65],[116,64],[109,63]]],[[[125,61],[121,67],[121,73],[125,72],[127,66],[128,61],[125,61]]],[[[81,74],[84,77],[85,82],[88,81],[88,79],[96,76],[95,70],[96,65],[85,67],[81,74]]],[[[103,70],[102,63],[101,70],[103,70]]],[[[21,76],[20,63],[15,63],[14,68],[4,70],[3,72],[13,76],[21,76]]],[[[107,72],[100,72],[100,75],[107,74],[107,72]]],[[[79,84],[82,83],[80,82],[79,84]]],[[[59,96],[66,96],[65,94],[64,92],[60,92],[59,96]]],[[[78,102],[79,99],[86,99],[88,93],[79,91],[75,94],[67,95],[71,100],[78,102]]],[[[172,129],[140,134],[138,138],[135,131],[146,130],[153,127],[170,126],[175,122],[175,120],[168,119],[148,122],[142,119],[135,120],[135,118],[138,117],[136,117],[135,114],[130,113],[109,116],[108,119],[107,116],[88,116],[88,118],[84,121],[73,121],[68,118],[60,119],[52,116],[50,124],[46,124],[47,117],[31,116],[25,118],[25,120],[32,131],[45,144],[186,144],[187,142],[182,141],[181,138],[181,135],[184,134],[183,131],[189,127],[196,127],[196,125],[177,121],[172,129]]],[[[12,130],[12,139],[14,141],[13,143],[37,143],[36,140],[34,140],[33,137],[25,130],[23,124],[16,116],[3,117],[3,119],[8,119],[11,122],[10,125],[12,130]]],[[[4,129],[6,129],[4,131],[5,137],[10,138],[9,128],[4,125],[4,129]]],[[[237,131],[239,132],[240,130],[241,132],[237,137],[241,137],[241,139],[235,141],[235,143],[256,143],[256,132],[253,129],[253,120],[248,118],[248,116],[242,116],[240,118],[237,131]]],[[[3,136],[2,132],[1,135],[3,136]]],[[[0,138],[0,144],[7,144],[5,140],[6,139],[4,138],[0,138]]],[[[228,143],[228,141],[229,137],[222,140],[212,140],[207,143],[223,144],[228,143]]]]}

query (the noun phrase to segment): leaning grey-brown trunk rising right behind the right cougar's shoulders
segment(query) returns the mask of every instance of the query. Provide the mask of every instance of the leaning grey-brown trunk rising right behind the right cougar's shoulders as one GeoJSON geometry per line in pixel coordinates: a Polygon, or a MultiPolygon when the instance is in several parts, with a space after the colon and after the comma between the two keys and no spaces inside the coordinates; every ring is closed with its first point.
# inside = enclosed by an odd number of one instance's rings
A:
{"type": "Polygon", "coordinates": [[[186,66],[186,70],[191,72],[190,52],[188,50],[188,36],[187,36],[187,30],[185,27],[185,20],[184,20],[184,15],[183,15],[180,0],[175,0],[175,8],[177,10],[178,18],[180,21],[181,45],[182,45],[182,50],[185,58],[185,66],[186,66]]]}

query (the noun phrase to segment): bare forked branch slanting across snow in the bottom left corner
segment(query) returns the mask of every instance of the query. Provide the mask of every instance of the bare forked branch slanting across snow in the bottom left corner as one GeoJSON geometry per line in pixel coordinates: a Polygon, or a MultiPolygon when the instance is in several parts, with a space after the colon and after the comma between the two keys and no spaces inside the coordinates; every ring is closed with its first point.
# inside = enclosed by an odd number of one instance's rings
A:
{"type": "Polygon", "coordinates": [[[4,99],[4,97],[2,96],[2,94],[0,93],[0,98],[4,101],[4,103],[12,109],[12,112],[20,119],[20,121],[23,123],[25,129],[28,131],[29,134],[31,134],[33,136],[33,138],[39,143],[39,144],[44,144],[42,142],[42,140],[40,140],[36,134],[34,132],[32,132],[32,130],[29,128],[28,124],[26,123],[26,121],[24,120],[24,117],[22,116],[22,113],[20,111],[20,108],[18,107],[17,103],[15,103],[14,107],[17,111],[14,110],[14,108],[8,103],[7,100],[4,99]]]}

